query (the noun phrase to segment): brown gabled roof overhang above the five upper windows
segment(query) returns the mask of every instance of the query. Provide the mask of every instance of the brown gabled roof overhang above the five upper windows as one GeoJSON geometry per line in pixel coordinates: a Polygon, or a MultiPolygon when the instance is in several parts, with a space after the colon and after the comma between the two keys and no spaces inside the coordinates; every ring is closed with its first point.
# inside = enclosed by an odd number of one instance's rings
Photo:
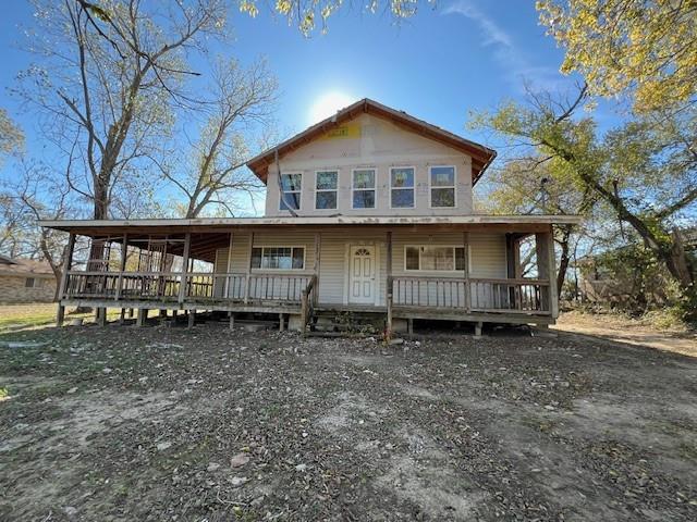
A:
{"type": "Polygon", "coordinates": [[[316,125],[303,130],[290,139],[279,144],[278,146],[261,152],[259,156],[250,159],[247,166],[256,174],[256,176],[266,183],[269,165],[276,161],[278,152],[279,158],[284,154],[299,149],[304,145],[321,137],[329,130],[355,119],[362,113],[371,114],[382,120],[387,120],[398,127],[402,127],[412,133],[432,139],[440,144],[452,147],[455,150],[464,152],[472,157],[472,184],[477,183],[484,171],[497,157],[497,152],[484,145],[476,144],[461,136],[452,134],[443,128],[431,125],[423,120],[418,120],[406,112],[396,111],[382,103],[364,98],[360,101],[340,110],[333,116],[322,120],[316,125]]]}

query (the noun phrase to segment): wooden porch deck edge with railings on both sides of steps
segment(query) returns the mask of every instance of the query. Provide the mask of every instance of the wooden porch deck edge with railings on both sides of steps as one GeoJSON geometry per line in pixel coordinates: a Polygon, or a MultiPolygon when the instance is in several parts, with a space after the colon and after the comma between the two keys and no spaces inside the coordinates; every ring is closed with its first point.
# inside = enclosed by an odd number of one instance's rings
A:
{"type": "MultiPolygon", "coordinates": [[[[240,313],[378,313],[394,319],[553,323],[549,282],[390,277],[387,306],[321,302],[314,275],[70,271],[62,306],[240,313]],[[184,281],[184,285],[182,285],[184,281]]],[[[304,323],[304,324],[305,324],[304,323]]]]}

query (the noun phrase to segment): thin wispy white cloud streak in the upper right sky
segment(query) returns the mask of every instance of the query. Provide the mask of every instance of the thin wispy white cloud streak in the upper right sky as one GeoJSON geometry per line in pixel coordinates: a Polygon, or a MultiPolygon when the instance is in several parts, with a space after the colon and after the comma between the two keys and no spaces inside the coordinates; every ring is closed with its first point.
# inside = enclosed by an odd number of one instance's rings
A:
{"type": "Polygon", "coordinates": [[[473,0],[454,1],[442,11],[442,14],[455,14],[474,22],[484,36],[481,46],[491,48],[492,55],[503,69],[506,80],[518,90],[524,90],[525,83],[531,84],[534,88],[546,90],[558,90],[568,86],[567,79],[560,76],[555,67],[531,64],[519,51],[519,46],[514,42],[511,34],[481,11],[473,0]]]}

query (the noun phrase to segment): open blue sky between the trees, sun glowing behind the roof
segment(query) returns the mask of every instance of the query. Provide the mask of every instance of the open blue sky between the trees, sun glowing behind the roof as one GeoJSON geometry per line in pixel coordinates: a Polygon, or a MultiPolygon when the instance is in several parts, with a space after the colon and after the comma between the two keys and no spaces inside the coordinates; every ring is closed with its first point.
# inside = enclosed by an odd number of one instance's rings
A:
{"type": "MultiPolygon", "coordinates": [[[[234,38],[216,51],[243,63],[267,58],[280,85],[282,135],[314,123],[317,100],[338,94],[333,98],[339,102],[374,98],[486,142],[489,137],[465,129],[469,110],[519,98],[524,80],[550,89],[571,85],[558,73],[562,51],[537,20],[533,1],[443,0],[437,10],[423,8],[399,26],[388,15],[342,11],[330,18],[327,34],[305,38],[268,11],[250,18],[234,10],[234,38]]],[[[17,46],[23,41],[21,27],[32,23],[30,5],[4,5],[0,107],[24,128],[27,153],[40,158],[49,146],[36,133],[36,115],[8,91],[34,59],[17,46]]],[[[9,175],[11,165],[5,164],[0,177],[9,175]]]]}

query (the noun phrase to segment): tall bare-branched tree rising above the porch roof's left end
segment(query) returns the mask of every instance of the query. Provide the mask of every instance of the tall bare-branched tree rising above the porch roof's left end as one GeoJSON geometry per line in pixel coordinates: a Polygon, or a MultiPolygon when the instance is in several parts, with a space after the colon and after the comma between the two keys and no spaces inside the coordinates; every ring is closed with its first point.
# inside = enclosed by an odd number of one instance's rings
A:
{"type": "Polygon", "coordinates": [[[65,151],[77,142],[82,170],[65,181],[94,219],[110,217],[122,182],[149,165],[189,100],[191,51],[224,30],[223,0],[35,0],[38,57],[21,96],[45,116],[47,137],[65,151]]]}

